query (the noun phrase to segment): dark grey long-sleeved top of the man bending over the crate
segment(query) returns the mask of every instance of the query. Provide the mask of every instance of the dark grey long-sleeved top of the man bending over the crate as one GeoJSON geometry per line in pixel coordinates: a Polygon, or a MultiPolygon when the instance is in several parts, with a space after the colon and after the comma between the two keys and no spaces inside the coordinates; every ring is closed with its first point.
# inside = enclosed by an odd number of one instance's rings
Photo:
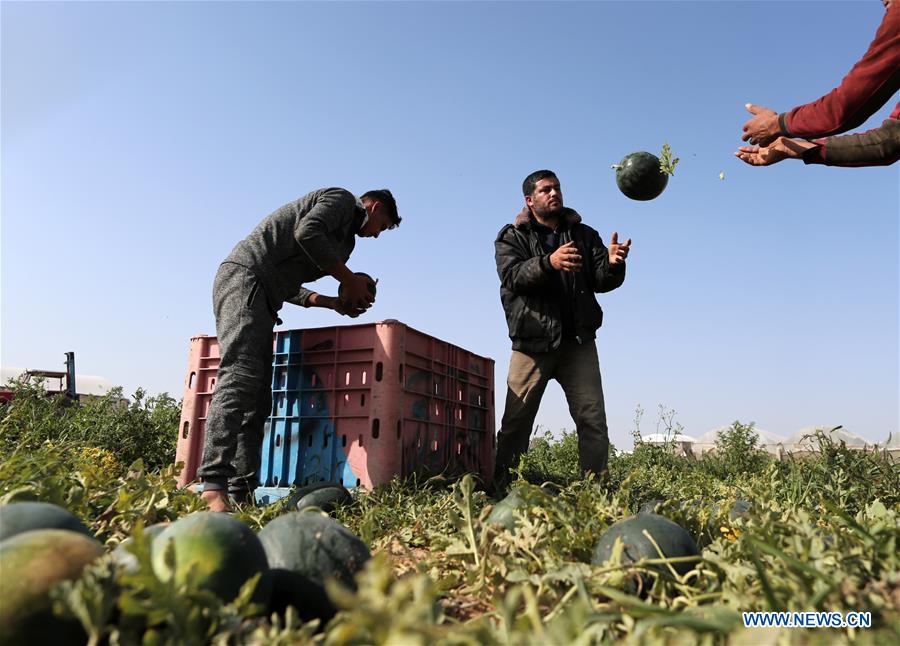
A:
{"type": "Polygon", "coordinates": [[[241,240],[223,262],[252,271],[274,312],[285,301],[306,306],[303,283],[347,262],[366,216],[362,203],[343,188],[323,188],[285,204],[241,240]]]}

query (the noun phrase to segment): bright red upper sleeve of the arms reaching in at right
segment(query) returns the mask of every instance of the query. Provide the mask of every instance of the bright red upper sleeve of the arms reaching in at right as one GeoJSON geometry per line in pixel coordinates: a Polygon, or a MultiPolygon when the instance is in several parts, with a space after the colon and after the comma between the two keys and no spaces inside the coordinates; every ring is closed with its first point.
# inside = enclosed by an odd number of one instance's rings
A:
{"type": "Polygon", "coordinates": [[[885,11],[875,40],[841,84],[782,114],[790,137],[827,137],[861,125],[900,89],[900,3],[885,11]]]}

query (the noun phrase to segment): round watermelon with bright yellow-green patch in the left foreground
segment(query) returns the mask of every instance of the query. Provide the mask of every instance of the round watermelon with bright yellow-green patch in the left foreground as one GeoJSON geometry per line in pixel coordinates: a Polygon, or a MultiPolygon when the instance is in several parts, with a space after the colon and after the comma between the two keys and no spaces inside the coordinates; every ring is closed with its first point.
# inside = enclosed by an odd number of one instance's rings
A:
{"type": "MultiPolygon", "coordinates": [[[[152,543],[153,571],[167,581],[183,583],[193,568],[193,582],[215,593],[222,601],[233,600],[241,586],[255,574],[268,571],[266,553],[256,534],[229,514],[200,511],[166,527],[152,543]],[[166,547],[175,546],[175,569],[165,561],[166,547]]],[[[268,603],[269,580],[262,577],[254,600],[268,603]]]]}

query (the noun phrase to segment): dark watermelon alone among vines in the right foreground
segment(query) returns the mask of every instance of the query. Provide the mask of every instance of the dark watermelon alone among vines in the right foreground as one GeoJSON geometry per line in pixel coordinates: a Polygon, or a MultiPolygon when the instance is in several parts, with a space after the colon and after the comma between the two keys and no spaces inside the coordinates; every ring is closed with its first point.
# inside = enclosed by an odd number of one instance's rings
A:
{"type": "MultiPolygon", "coordinates": [[[[625,548],[622,553],[623,563],[660,558],[656,547],[644,536],[643,530],[647,530],[667,558],[700,554],[694,539],[680,525],[656,514],[641,513],[628,516],[611,525],[597,541],[591,563],[594,565],[606,563],[612,556],[613,545],[617,538],[622,539],[625,548]]],[[[690,572],[695,565],[696,562],[672,563],[672,567],[679,574],[690,572]]]]}

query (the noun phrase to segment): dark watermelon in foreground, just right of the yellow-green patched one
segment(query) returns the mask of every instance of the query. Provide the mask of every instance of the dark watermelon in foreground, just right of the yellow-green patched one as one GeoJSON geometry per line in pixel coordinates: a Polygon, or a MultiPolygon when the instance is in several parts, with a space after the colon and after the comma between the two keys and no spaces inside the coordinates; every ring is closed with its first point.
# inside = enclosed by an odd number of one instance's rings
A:
{"type": "Polygon", "coordinates": [[[292,605],[305,619],[330,619],[335,608],[325,581],[356,589],[353,577],[371,557],[349,529],[315,512],[279,516],[260,530],[259,540],[274,571],[270,608],[283,611],[292,605]]]}

